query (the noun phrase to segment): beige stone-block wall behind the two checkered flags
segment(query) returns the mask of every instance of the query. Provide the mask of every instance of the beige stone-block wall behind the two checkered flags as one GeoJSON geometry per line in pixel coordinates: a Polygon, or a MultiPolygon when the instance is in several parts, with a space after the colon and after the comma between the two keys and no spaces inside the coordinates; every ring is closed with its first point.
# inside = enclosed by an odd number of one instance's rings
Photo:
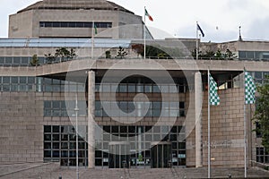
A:
{"type": "MultiPolygon", "coordinates": [[[[219,90],[220,106],[211,106],[211,165],[244,166],[244,90],[219,90]]],[[[203,164],[207,166],[207,94],[203,106],[203,164]]],[[[247,112],[249,115],[250,111],[247,112]]],[[[247,124],[251,124],[250,118],[247,124]]],[[[251,134],[248,130],[247,133],[251,134]]],[[[248,136],[248,141],[251,138],[248,136]]],[[[250,158],[251,148],[248,148],[250,158]]]]}

